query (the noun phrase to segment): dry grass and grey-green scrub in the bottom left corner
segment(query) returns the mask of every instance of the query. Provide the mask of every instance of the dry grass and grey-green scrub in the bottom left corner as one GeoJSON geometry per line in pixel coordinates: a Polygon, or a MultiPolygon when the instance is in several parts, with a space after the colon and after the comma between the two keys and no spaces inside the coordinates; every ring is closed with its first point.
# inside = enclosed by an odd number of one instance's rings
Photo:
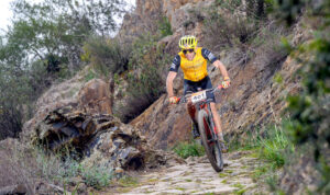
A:
{"type": "Polygon", "coordinates": [[[0,156],[0,188],[23,185],[28,194],[63,194],[75,191],[80,184],[101,188],[113,177],[108,168],[86,167],[72,159],[46,154],[37,148],[23,146],[16,139],[1,141],[0,156]]]}

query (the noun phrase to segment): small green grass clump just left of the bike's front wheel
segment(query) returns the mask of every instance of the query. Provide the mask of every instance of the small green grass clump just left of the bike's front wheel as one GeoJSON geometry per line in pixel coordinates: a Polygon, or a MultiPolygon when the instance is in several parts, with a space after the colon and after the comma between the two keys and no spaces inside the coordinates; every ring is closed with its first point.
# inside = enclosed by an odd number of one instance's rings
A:
{"type": "Polygon", "coordinates": [[[205,154],[204,147],[196,141],[180,142],[173,148],[173,151],[184,159],[187,159],[188,157],[201,157],[205,154]]]}

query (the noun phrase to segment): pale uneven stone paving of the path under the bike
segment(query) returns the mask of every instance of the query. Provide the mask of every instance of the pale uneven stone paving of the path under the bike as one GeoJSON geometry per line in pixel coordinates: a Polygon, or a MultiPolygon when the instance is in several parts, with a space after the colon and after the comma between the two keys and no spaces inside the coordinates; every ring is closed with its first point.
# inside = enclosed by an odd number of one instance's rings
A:
{"type": "Polygon", "coordinates": [[[143,174],[138,186],[122,187],[114,194],[264,194],[251,176],[257,159],[240,151],[227,154],[224,160],[224,170],[217,173],[206,157],[190,157],[186,164],[143,174]]]}

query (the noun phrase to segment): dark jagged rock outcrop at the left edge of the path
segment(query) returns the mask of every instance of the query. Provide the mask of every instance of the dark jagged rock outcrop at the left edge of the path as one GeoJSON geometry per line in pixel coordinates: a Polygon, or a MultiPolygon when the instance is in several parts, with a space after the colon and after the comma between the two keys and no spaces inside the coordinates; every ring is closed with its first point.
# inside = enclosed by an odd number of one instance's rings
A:
{"type": "Polygon", "coordinates": [[[70,153],[87,165],[141,170],[165,165],[174,156],[153,150],[140,131],[109,114],[86,114],[65,106],[38,123],[32,142],[70,153]]]}

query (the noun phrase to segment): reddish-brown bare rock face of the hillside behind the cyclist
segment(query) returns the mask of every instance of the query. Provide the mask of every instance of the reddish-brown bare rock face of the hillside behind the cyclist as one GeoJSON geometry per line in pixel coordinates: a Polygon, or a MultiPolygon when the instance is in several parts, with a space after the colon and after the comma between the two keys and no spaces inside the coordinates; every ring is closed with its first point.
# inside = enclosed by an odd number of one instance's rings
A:
{"type": "MultiPolygon", "coordinates": [[[[161,43],[166,45],[166,51],[173,54],[173,56],[178,51],[178,38],[185,34],[196,35],[200,41],[200,46],[204,46],[207,37],[204,37],[202,34],[202,28],[205,27],[202,18],[207,13],[201,10],[209,8],[213,3],[213,1],[193,0],[175,2],[169,3],[169,5],[165,0],[162,3],[162,12],[170,19],[174,33],[163,38],[161,43]],[[196,12],[199,18],[196,18],[196,12]],[[187,21],[193,22],[187,25],[187,21]]],[[[148,1],[144,3],[140,1],[138,10],[147,4],[148,1]]],[[[151,7],[148,9],[152,10],[151,7]]],[[[139,11],[136,14],[139,14],[139,11]]],[[[125,23],[123,25],[124,28],[125,23]]],[[[139,28],[139,26],[136,27],[139,28]]],[[[306,32],[297,25],[292,33],[292,43],[297,44],[308,38],[309,35],[306,32]]],[[[271,55],[277,55],[277,57],[272,58],[272,56],[265,54],[266,51],[263,47],[260,47],[256,49],[255,56],[249,62],[244,62],[244,59],[239,57],[239,53],[237,49],[227,51],[215,49],[215,54],[227,66],[232,80],[230,89],[217,94],[217,106],[222,118],[222,126],[230,139],[234,136],[242,136],[246,131],[260,129],[266,124],[279,123],[282,119],[280,112],[286,106],[285,97],[287,94],[294,94],[299,91],[298,82],[293,79],[293,74],[299,68],[299,65],[287,55],[274,50],[272,53],[275,54],[271,55]],[[276,82],[276,78],[280,78],[280,83],[276,82]]],[[[215,70],[209,66],[209,73],[215,85],[221,82],[219,70],[215,70]]],[[[183,94],[182,77],[182,74],[178,74],[175,80],[177,95],[183,94]]],[[[190,138],[190,119],[186,114],[185,107],[183,105],[169,106],[166,94],[131,124],[140,128],[156,148],[166,149],[178,141],[190,138]]]]}

